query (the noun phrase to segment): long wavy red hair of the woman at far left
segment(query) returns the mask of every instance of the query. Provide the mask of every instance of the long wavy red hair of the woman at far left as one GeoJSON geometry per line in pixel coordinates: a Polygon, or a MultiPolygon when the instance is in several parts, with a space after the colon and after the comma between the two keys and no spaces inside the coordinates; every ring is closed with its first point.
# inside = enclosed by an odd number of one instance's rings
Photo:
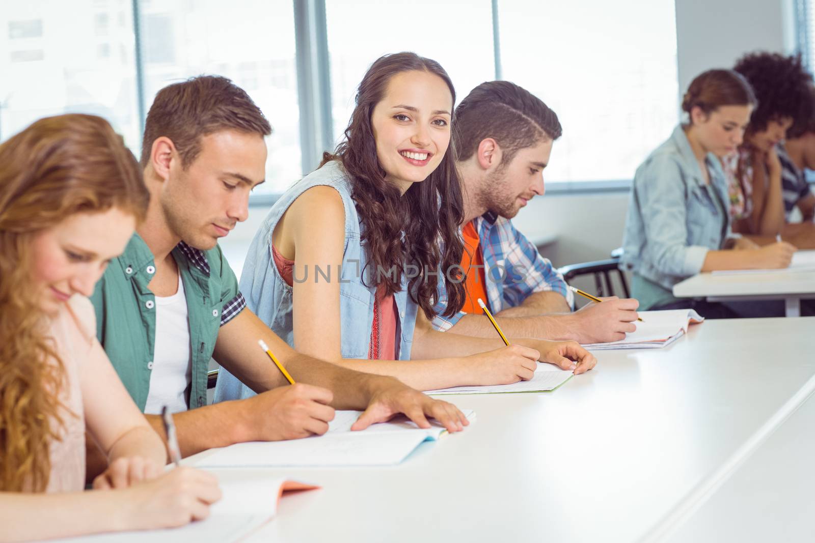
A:
{"type": "Polygon", "coordinates": [[[64,366],[47,335],[29,247],[77,212],[118,208],[141,221],[139,164],[101,117],[62,115],[0,145],[0,491],[42,491],[64,424],[64,366]]]}

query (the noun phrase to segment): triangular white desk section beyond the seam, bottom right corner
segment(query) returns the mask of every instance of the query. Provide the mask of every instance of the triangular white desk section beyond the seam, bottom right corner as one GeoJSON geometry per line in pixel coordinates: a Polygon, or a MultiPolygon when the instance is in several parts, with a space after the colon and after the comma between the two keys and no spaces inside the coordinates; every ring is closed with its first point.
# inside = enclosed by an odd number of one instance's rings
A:
{"type": "Polygon", "coordinates": [[[815,541],[813,428],[809,396],[671,541],[815,541]]]}

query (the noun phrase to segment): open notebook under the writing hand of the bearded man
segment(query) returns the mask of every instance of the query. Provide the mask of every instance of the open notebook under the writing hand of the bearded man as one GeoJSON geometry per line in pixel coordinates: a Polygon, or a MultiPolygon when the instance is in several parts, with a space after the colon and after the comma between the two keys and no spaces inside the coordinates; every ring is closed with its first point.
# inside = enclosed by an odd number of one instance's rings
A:
{"type": "Polygon", "coordinates": [[[693,309],[670,309],[667,311],[640,311],[642,322],[635,322],[637,331],[626,334],[625,339],[606,344],[588,344],[584,348],[593,351],[621,348],[663,348],[672,344],[688,331],[688,326],[703,322],[693,309]]]}

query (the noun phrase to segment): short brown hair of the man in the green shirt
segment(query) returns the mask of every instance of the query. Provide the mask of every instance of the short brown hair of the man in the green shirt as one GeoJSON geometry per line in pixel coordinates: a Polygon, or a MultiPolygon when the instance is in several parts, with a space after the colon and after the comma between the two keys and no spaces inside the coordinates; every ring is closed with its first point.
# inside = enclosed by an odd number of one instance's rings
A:
{"type": "Polygon", "coordinates": [[[268,136],[271,125],[249,94],[226,77],[198,76],[165,86],[144,123],[142,168],[157,138],[170,138],[187,168],[200,153],[200,138],[221,130],[268,136]]]}

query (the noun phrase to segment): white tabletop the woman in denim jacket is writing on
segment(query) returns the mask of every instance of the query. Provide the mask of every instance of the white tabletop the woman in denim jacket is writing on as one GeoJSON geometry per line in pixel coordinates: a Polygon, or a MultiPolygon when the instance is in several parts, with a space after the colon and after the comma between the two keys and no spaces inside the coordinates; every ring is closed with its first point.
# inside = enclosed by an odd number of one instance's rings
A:
{"type": "Polygon", "coordinates": [[[815,295],[815,271],[768,274],[698,274],[673,287],[677,298],[704,296],[815,295]]]}

